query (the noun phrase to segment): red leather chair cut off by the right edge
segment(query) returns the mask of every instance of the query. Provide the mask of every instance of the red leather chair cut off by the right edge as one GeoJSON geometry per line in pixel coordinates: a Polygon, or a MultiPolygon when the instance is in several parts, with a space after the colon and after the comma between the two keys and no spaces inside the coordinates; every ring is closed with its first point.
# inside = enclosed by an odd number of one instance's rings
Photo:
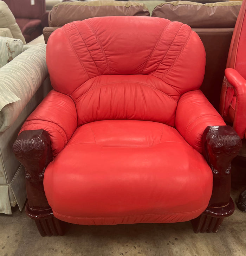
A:
{"type": "MultiPolygon", "coordinates": [[[[220,114],[233,123],[241,139],[246,138],[246,1],[242,3],[228,53],[220,96],[220,114]]],[[[238,207],[246,211],[246,190],[238,207]]]]}

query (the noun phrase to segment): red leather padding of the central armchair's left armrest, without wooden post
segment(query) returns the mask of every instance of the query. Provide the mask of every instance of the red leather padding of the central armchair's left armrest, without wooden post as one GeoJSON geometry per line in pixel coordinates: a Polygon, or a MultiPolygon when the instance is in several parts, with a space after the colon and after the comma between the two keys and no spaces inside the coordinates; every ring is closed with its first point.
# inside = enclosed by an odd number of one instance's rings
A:
{"type": "Polygon", "coordinates": [[[46,130],[50,135],[53,156],[56,156],[70,140],[77,128],[77,111],[73,100],[52,90],[27,118],[19,134],[24,130],[46,130]]]}

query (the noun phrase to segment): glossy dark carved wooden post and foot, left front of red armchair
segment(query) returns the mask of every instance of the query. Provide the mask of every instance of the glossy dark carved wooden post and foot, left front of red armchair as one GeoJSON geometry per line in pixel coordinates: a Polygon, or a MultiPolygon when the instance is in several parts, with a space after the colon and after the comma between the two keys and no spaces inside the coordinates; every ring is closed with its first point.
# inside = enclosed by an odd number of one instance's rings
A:
{"type": "Polygon", "coordinates": [[[53,216],[44,192],[44,172],[52,161],[50,137],[45,130],[22,132],[13,145],[15,157],[26,169],[26,214],[35,220],[41,236],[57,236],[63,232],[53,216]]]}

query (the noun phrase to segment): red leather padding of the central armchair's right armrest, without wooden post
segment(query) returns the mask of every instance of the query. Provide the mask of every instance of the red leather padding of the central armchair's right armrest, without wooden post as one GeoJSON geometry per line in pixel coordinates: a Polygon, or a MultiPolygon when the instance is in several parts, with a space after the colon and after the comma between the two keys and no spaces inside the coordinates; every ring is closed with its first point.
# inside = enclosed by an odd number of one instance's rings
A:
{"type": "Polygon", "coordinates": [[[200,90],[183,94],[178,102],[175,126],[182,137],[202,153],[202,135],[207,126],[226,125],[200,90]]]}

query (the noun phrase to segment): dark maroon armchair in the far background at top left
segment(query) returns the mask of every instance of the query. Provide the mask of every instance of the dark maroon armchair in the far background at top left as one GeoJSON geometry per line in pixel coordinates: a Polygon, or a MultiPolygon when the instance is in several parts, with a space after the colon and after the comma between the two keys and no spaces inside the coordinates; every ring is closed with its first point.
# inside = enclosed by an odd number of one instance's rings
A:
{"type": "Polygon", "coordinates": [[[13,13],[27,43],[43,33],[41,20],[45,14],[45,0],[4,0],[13,13]]]}

